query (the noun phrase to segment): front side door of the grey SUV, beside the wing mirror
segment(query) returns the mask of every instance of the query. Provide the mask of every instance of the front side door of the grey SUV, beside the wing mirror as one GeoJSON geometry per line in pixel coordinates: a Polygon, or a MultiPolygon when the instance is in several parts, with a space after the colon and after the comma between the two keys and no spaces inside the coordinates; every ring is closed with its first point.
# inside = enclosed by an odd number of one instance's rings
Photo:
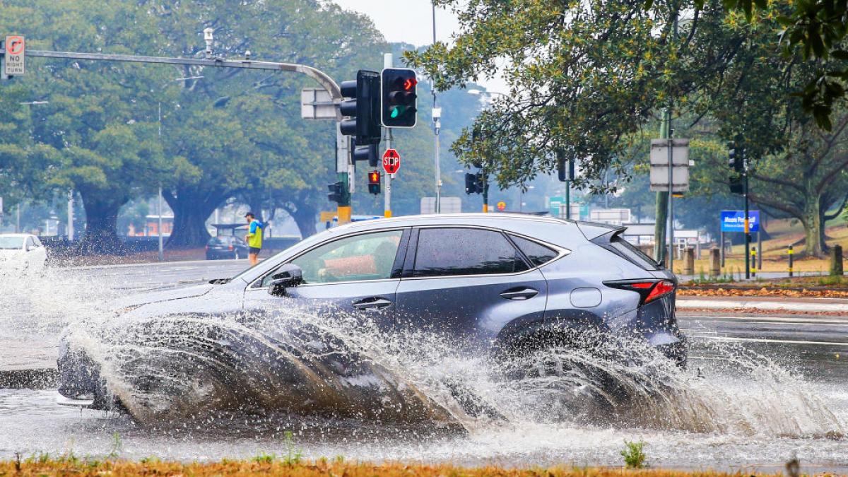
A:
{"type": "Polygon", "coordinates": [[[285,296],[269,295],[275,268],[248,285],[245,308],[304,306],[325,312],[366,313],[381,324],[394,322],[395,291],[403,269],[409,228],[357,233],[318,244],[281,264],[303,271],[304,283],[285,296]]]}

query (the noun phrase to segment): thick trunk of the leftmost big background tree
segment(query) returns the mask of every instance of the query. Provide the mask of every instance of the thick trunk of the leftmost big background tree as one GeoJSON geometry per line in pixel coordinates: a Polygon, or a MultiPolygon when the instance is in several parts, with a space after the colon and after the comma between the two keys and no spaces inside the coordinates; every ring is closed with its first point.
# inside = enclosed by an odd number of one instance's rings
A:
{"type": "Polygon", "coordinates": [[[81,254],[122,254],[126,247],[115,229],[118,211],[128,199],[103,199],[101,194],[80,190],[86,210],[86,231],[78,246],[81,254]]]}

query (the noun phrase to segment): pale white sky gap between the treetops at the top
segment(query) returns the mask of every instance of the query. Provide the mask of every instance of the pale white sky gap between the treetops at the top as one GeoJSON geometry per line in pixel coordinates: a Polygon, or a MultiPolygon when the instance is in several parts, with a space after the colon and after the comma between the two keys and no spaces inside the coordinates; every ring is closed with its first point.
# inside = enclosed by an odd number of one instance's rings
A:
{"type": "MultiPolygon", "coordinates": [[[[407,42],[421,47],[432,44],[432,3],[429,0],[333,0],[342,8],[371,17],[377,30],[388,42],[407,42]],[[410,23],[407,19],[421,19],[410,23]]],[[[436,39],[450,43],[450,37],[460,28],[453,12],[436,8],[436,39]]],[[[508,91],[504,81],[497,77],[477,81],[489,91],[508,91]]]]}

